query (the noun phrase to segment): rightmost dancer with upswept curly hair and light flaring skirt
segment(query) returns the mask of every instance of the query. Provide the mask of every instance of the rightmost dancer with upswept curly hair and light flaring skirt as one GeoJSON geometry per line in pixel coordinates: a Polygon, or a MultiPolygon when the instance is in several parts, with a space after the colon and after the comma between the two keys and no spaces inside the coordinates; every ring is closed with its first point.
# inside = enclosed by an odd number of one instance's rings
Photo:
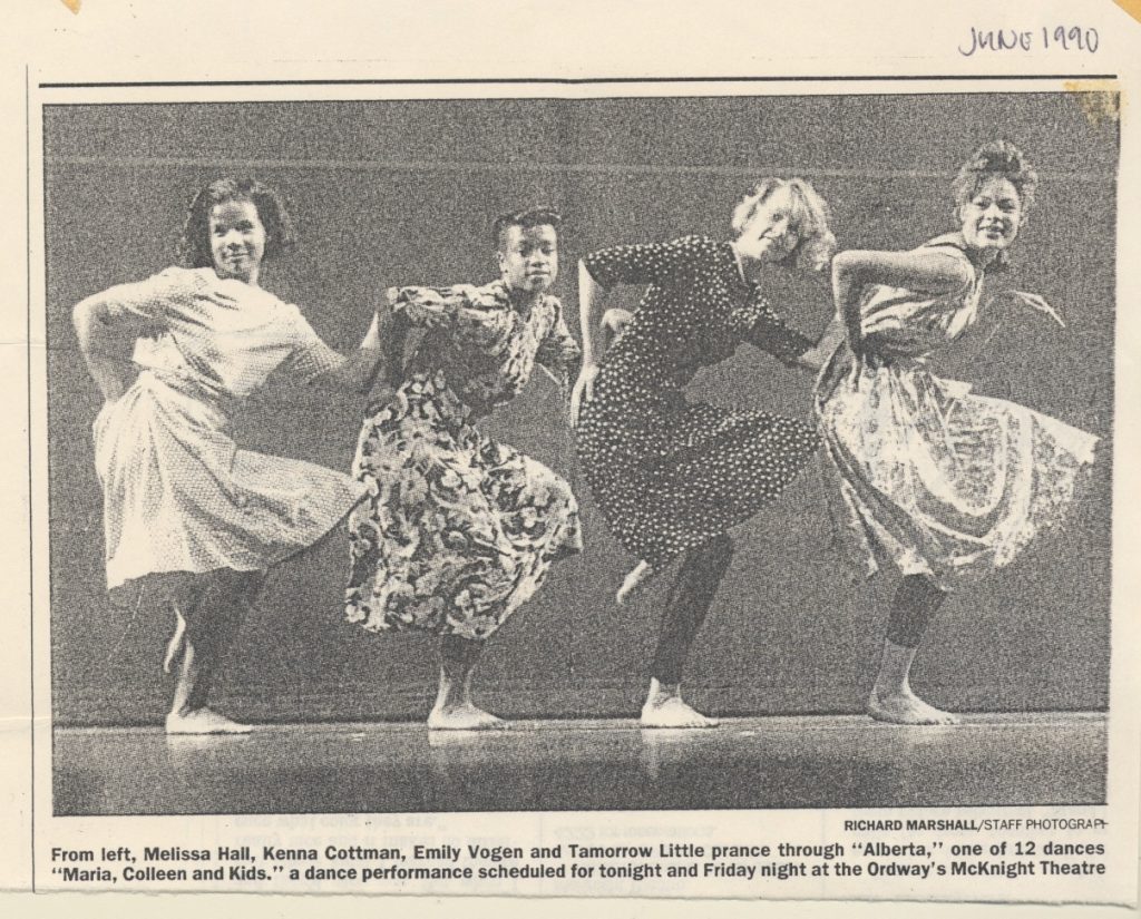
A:
{"type": "MultiPolygon", "coordinates": [[[[988,144],[955,181],[958,231],[911,252],[850,251],[833,261],[831,334],[840,341],[820,375],[817,414],[834,519],[865,575],[881,561],[904,575],[868,704],[881,721],[957,721],[909,685],[932,616],[948,592],[1061,521],[1093,462],[1092,434],[976,396],[926,365],[974,322],[984,278],[1008,261],[1036,185],[1017,147],[988,144]]],[[[1042,298],[1008,293],[1054,315],[1042,298]]]]}

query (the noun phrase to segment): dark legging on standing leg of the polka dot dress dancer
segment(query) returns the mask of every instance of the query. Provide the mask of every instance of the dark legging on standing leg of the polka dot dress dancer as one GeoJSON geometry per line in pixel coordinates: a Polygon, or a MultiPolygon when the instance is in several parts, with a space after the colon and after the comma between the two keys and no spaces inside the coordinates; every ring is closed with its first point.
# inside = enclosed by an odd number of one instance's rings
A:
{"type": "Polygon", "coordinates": [[[650,676],[659,683],[675,685],[681,682],[689,648],[709,615],[730,561],[733,539],[723,535],[686,553],[665,601],[662,634],[650,669],[650,676]]]}

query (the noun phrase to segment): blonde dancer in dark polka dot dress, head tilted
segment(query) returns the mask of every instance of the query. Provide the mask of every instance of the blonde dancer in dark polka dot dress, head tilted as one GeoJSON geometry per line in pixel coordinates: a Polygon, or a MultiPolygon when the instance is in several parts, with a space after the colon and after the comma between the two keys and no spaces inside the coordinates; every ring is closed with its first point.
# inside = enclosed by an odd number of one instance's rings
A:
{"type": "MultiPolygon", "coordinates": [[[[819,270],[834,247],[827,208],[800,179],[759,184],[734,212],[737,239],[689,236],[594,252],[580,267],[583,369],[572,398],[578,457],[612,532],[640,563],[618,602],[678,556],[641,722],[705,727],[681,672],[733,555],[729,528],[776,499],[817,448],[811,424],[688,401],[685,385],[742,343],[816,369],[820,356],[761,296],[767,265],[819,270]],[[605,291],[650,285],[607,353],[593,341],[605,291]]],[[[613,311],[607,314],[613,324],[613,311]]]]}

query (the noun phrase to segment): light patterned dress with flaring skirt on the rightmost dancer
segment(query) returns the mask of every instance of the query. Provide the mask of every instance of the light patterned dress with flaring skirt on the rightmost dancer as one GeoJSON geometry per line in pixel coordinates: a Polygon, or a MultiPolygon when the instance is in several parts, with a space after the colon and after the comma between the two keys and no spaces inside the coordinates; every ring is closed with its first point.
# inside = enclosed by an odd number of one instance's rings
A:
{"type": "Polygon", "coordinates": [[[961,260],[970,282],[936,298],[871,287],[861,302],[866,356],[840,345],[816,410],[850,560],[868,576],[885,560],[952,589],[1006,564],[1065,518],[1098,438],[931,373],[928,356],[974,323],[982,278],[958,235],[916,251],[961,260]]]}

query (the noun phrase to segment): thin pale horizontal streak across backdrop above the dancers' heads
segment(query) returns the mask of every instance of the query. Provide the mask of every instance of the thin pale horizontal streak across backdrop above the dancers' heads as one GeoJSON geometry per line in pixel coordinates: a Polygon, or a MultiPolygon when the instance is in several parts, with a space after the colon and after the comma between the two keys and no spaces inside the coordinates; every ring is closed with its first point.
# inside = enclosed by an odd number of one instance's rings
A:
{"type": "MultiPolygon", "coordinates": [[[[699,174],[699,176],[815,176],[830,179],[946,179],[937,170],[900,169],[812,169],[787,165],[652,165],[646,163],[482,163],[464,161],[405,162],[391,160],[236,160],[207,157],[124,157],[124,156],[47,156],[49,169],[62,166],[113,166],[118,169],[325,169],[358,172],[597,172],[641,174],[699,174]]],[[[1100,172],[1041,172],[1043,178],[1065,181],[1116,181],[1114,173],[1100,172]]]]}

